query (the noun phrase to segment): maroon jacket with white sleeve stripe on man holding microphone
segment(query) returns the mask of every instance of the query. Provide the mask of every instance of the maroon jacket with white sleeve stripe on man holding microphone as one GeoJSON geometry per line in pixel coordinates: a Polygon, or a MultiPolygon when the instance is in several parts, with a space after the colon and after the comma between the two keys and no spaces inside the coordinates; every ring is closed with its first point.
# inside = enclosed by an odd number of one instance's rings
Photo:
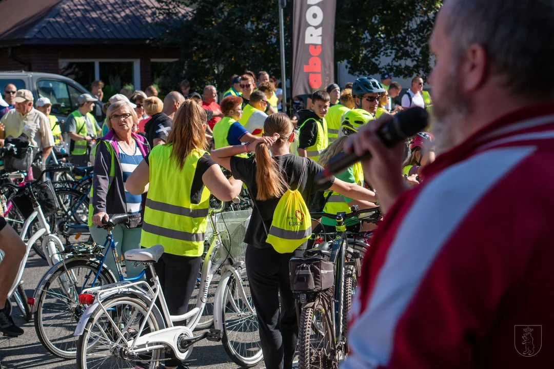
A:
{"type": "Polygon", "coordinates": [[[373,238],[341,369],[554,368],[554,104],[424,175],[373,238]]]}

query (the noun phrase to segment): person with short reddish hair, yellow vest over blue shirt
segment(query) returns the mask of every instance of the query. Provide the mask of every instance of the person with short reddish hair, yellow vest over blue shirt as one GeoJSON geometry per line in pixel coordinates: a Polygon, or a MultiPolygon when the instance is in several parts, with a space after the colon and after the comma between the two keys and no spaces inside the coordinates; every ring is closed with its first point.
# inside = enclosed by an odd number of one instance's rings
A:
{"type": "Polygon", "coordinates": [[[214,148],[253,142],[257,138],[239,123],[243,115],[241,106],[240,96],[227,96],[221,101],[220,107],[225,117],[213,126],[214,148]]]}

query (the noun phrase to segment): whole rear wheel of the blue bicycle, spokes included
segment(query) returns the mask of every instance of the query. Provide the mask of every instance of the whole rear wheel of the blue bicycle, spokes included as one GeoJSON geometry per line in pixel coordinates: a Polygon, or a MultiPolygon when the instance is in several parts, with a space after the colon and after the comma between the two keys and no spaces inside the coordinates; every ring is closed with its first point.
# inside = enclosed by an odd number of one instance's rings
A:
{"type": "MultiPolygon", "coordinates": [[[[35,302],[35,331],[45,349],[55,356],[75,358],[77,355],[78,337],[73,332],[87,307],[79,303],[79,294],[93,287],[98,269],[99,263],[89,260],[65,262],[65,268],[60,265],[39,291],[35,302]]],[[[115,279],[104,267],[95,287],[110,283],[115,283],[115,279]]]]}

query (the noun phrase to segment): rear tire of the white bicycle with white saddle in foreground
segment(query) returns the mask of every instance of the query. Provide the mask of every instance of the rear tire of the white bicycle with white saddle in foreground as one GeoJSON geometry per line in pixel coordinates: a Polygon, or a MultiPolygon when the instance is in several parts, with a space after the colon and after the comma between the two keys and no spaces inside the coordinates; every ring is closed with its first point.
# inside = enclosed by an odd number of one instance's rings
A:
{"type": "MultiPolygon", "coordinates": [[[[114,309],[114,310],[111,310],[111,311],[116,311],[116,314],[119,313],[119,311],[120,311],[120,310],[117,310],[117,308],[114,308],[114,306],[116,306],[116,304],[120,304],[122,306],[129,306],[129,305],[135,306],[137,308],[142,309],[141,313],[148,310],[147,304],[142,299],[136,297],[136,295],[133,295],[133,294],[114,295],[112,297],[109,297],[109,298],[106,298],[105,300],[103,300],[102,304],[105,306],[106,310],[114,309]]],[[[153,306],[153,309],[157,310],[156,305],[153,306]]],[[[121,309],[121,311],[122,311],[122,309],[121,309]]],[[[86,323],[85,330],[83,331],[83,334],[81,334],[79,336],[79,342],[78,342],[78,345],[77,345],[77,367],[79,369],[88,369],[89,368],[89,366],[87,365],[87,354],[89,354],[89,353],[93,354],[94,350],[98,348],[98,345],[89,346],[88,345],[88,340],[89,340],[89,337],[91,337],[91,335],[94,334],[95,324],[101,318],[102,314],[104,314],[104,310],[102,310],[100,308],[100,306],[98,306],[98,308],[95,311],[93,311],[93,313],[90,315],[90,318],[86,323]]],[[[145,314],[143,314],[143,316],[145,316],[145,314]]],[[[165,324],[163,324],[163,321],[158,321],[156,316],[161,316],[161,315],[156,315],[156,313],[154,311],[151,311],[150,315],[148,315],[148,318],[147,318],[148,320],[147,320],[147,323],[145,325],[145,329],[149,329],[150,331],[157,331],[157,330],[160,330],[161,328],[165,327],[165,324]]],[[[120,321],[120,320],[115,319],[115,321],[120,321]]],[[[109,327],[110,326],[108,326],[108,328],[109,327]]],[[[104,331],[106,331],[106,333],[110,332],[109,329],[105,329],[104,331]]],[[[110,343],[112,343],[112,342],[110,342],[110,343]]],[[[153,350],[153,351],[151,351],[152,352],[152,357],[148,359],[148,360],[150,360],[149,361],[150,365],[148,366],[147,369],[154,369],[154,368],[157,367],[158,360],[160,360],[161,351],[162,350],[153,350]]],[[[119,352],[119,350],[118,350],[118,352],[119,352]]],[[[117,358],[117,356],[115,356],[113,352],[110,352],[110,354],[111,354],[110,356],[106,356],[106,360],[109,357],[117,358]]],[[[137,361],[140,361],[140,360],[137,358],[137,360],[130,360],[130,361],[131,362],[137,362],[137,361]]],[[[127,363],[126,365],[130,365],[130,363],[127,363]]],[[[134,367],[134,366],[135,365],[132,365],[132,366],[119,366],[118,365],[117,367],[134,367]]],[[[106,365],[96,365],[96,366],[93,366],[93,367],[94,368],[106,367],[106,365]]],[[[114,367],[114,366],[109,366],[109,367],[114,367]]],[[[141,364],[141,367],[143,367],[142,364],[141,364]]]]}

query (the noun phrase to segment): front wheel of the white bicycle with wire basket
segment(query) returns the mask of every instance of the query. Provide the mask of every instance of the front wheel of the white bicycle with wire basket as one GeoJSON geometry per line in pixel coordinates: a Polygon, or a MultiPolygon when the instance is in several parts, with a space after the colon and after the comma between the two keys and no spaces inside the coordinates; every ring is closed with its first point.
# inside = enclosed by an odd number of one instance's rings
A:
{"type": "MultiPolygon", "coordinates": [[[[240,283],[243,284],[245,292],[249,293],[250,288],[248,279],[244,276],[240,283]]],[[[221,321],[223,322],[223,337],[221,342],[223,348],[231,360],[240,367],[249,368],[255,366],[263,359],[263,353],[261,352],[258,316],[252,314],[247,306],[250,305],[252,309],[254,309],[252,298],[250,297],[249,301],[244,302],[240,297],[237,280],[233,276],[229,277],[221,288],[223,290],[223,308],[221,311],[221,321]],[[237,308],[240,311],[237,311],[237,308]],[[232,330],[232,328],[235,328],[239,324],[236,323],[237,321],[240,322],[243,320],[247,325],[247,329],[252,327],[254,330],[249,330],[246,333],[244,329],[240,328],[238,330],[232,330]],[[239,349],[240,346],[237,347],[234,340],[243,338],[249,342],[245,342],[244,349],[239,349]]],[[[244,323],[242,326],[244,326],[244,323]]]]}

